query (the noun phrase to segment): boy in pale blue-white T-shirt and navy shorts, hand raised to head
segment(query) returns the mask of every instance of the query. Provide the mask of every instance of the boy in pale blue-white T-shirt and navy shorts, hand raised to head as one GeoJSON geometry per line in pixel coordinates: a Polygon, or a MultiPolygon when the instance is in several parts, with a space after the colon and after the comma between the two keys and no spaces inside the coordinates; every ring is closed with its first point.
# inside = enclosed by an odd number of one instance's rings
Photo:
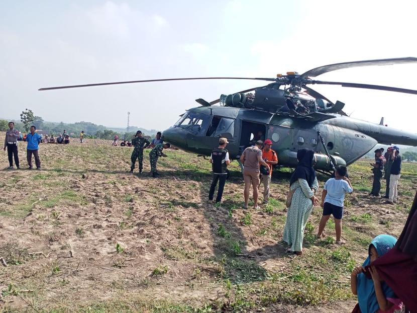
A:
{"type": "Polygon", "coordinates": [[[347,174],[348,169],[345,166],[339,166],[335,172],[335,178],[331,178],[326,182],[322,193],[323,216],[320,221],[317,238],[322,237],[326,223],[330,215],[333,215],[335,218],[336,244],[344,243],[341,240],[343,202],[345,201],[345,194],[353,192],[352,184],[346,177],[347,174]]]}

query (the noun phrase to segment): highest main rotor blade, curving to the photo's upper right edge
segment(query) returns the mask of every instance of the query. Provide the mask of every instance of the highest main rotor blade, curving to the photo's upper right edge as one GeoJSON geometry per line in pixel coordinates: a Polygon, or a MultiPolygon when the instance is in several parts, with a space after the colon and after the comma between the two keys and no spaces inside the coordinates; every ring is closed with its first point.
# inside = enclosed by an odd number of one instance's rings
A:
{"type": "Polygon", "coordinates": [[[331,72],[333,70],[343,69],[343,68],[371,66],[371,65],[392,65],[392,64],[404,64],[404,63],[415,63],[415,62],[417,62],[417,58],[415,57],[400,57],[400,58],[392,58],[392,59],[335,63],[335,64],[324,65],[324,66],[307,70],[305,73],[301,74],[300,79],[305,79],[306,77],[316,77],[321,74],[331,72]]]}

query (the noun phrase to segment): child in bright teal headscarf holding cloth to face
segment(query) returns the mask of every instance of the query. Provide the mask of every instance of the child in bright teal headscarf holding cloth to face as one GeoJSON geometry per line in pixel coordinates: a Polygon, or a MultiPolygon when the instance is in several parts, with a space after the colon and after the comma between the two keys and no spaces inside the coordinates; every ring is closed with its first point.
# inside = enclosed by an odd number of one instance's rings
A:
{"type": "Polygon", "coordinates": [[[387,234],[374,238],[368,248],[368,258],[357,266],[351,275],[352,293],[358,295],[358,304],[353,313],[381,313],[401,311],[402,302],[394,291],[383,281],[373,262],[390,251],[396,239],[387,234]],[[371,278],[371,279],[370,279],[371,278]]]}

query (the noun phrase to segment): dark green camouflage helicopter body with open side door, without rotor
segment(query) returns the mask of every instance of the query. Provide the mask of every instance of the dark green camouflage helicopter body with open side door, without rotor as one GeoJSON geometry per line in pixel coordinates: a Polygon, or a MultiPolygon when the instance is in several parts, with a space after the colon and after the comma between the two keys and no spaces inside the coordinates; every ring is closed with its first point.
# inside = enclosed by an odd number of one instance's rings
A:
{"type": "Polygon", "coordinates": [[[268,138],[273,142],[279,166],[295,167],[296,151],[307,147],[315,150],[316,168],[323,171],[331,171],[332,167],[320,135],[335,166],[354,163],[378,142],[417,146],[417,134],[346,116],[322,115],[322,120],[311,121],[251,109],[196,107],[186,111],[162,137],[180,149],[206,156],[218,146],[219,137],[226,137],[232,159],[238,159],[254,140],[268,138]]]}

